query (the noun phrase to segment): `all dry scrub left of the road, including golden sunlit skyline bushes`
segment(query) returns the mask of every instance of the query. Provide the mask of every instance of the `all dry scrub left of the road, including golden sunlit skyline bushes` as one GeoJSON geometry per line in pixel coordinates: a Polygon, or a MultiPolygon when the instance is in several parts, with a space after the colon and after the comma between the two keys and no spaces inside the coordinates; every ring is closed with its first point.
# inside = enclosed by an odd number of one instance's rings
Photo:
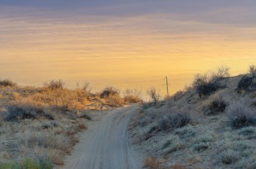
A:
{"type": "Polygon", "coordinates": [[[94,113],[142,101],[113,87],[92,93],[88,82],[67,89],[63,80],[38,88],[1,80],[0,95],[0,168],[62,166],[94,113]]]}

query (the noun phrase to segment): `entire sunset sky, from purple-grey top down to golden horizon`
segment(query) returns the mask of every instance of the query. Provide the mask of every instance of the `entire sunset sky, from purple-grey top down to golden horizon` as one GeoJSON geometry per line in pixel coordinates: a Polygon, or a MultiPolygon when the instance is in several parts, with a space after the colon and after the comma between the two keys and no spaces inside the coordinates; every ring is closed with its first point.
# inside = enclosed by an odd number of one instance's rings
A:
{"type": "Polygon", "coordinates": [[[256,64],[253,0],[0,0],[0,78],[170,93],[197,73],[256,64]]]}

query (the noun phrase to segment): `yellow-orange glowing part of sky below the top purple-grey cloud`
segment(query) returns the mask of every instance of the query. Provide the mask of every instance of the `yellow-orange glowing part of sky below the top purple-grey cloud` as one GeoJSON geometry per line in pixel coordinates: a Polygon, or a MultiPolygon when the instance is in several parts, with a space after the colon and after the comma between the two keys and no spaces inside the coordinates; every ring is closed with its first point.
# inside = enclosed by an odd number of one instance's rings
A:
{"type": "Polygon", "coordinates": [[[153,86],[164,95],[164,76],[175,93],[197,73],[226,65],[238,75],[256,63],[254,27],[166,17],[81,17],[78,23],[72,16],[67,22],[1,19],[0,77],[28,86],[61,78],[69,88],[86,80],[94,91],[114,86],[145,93],[153,86]]]}

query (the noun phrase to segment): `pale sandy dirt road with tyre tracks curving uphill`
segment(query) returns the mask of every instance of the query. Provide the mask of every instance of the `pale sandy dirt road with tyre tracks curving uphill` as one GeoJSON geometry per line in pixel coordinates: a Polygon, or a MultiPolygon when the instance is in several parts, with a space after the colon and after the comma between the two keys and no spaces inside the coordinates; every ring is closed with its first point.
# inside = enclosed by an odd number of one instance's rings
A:
{"type": "Polygon", "coordinates": [[[108,111],[89,129],[76,146],[65,169],[140,169],[142,156],[129,144],[127,125],[138,105],[108,111]]]}

